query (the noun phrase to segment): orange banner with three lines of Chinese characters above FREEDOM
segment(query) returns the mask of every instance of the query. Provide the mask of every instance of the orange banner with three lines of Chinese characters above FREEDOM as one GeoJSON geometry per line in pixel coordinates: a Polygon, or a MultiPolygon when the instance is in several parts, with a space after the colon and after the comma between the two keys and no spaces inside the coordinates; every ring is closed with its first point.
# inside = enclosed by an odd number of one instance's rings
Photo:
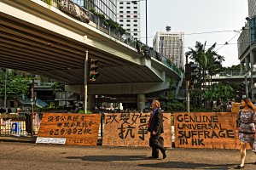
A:
{"type": "Polygon", "coordinates": [[[43,114],[38,137],[43,143],[53,138],[66,139],[66,144],[96,145],[100,122],[100,114],[47,113],[43,114]]]}

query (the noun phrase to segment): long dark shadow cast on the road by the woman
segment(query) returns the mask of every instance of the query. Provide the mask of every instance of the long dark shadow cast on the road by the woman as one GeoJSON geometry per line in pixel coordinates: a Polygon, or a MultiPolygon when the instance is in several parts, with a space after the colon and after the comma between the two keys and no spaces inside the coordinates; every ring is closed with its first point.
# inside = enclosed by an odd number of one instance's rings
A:
{"type": "Polygon", "coordinates": [[[166,161],[152,164],[139,164],[139,167],[154,167],[154,168],[180,168],[180,169],[234,169],[236,164],[207,164],[195,163],[192,161],[166,161]]]}

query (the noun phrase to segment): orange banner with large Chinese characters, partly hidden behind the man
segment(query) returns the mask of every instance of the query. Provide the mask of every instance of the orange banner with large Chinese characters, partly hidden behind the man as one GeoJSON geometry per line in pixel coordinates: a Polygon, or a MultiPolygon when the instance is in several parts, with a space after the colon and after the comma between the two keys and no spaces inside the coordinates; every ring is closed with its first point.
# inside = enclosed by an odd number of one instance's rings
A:
{"type": "MultiPolygon", "coordinates": [[[[164,146],[172,147],[171,113],[163,114],[164,146]]],[[[113,113],[105,116],[102,145],[149,146],[148,121],[150,113],[113,113]]]]}

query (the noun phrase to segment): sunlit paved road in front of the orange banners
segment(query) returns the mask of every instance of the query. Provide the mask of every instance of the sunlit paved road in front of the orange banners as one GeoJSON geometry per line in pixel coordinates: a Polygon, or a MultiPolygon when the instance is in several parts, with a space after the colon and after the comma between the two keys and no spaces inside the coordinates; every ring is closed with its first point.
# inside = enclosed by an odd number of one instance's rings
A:
{"type": "MultiPolygon", "coordinates": [[[[73,146],[0,142],[1,170],[30,169],[234,169],[239,150],[168,150],[165,160],[150,160],[149,148],[73,146]]],[[[256,169],[256,156],[247,152],[244,169],[256,169]]]]}

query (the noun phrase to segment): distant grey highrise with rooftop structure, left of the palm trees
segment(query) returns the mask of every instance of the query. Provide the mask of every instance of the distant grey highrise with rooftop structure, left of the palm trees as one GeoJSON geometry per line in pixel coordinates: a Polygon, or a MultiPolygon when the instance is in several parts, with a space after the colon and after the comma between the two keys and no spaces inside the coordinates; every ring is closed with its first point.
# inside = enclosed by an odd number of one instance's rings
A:
{"type": "Polygon", "coordinates": [[[166,26],[166,31],[157,31],[154,36],[154,50],[170,59],[178,68],[183,68],[183,47],[184,32],[172,32],[170,26],[166,26]]]}

